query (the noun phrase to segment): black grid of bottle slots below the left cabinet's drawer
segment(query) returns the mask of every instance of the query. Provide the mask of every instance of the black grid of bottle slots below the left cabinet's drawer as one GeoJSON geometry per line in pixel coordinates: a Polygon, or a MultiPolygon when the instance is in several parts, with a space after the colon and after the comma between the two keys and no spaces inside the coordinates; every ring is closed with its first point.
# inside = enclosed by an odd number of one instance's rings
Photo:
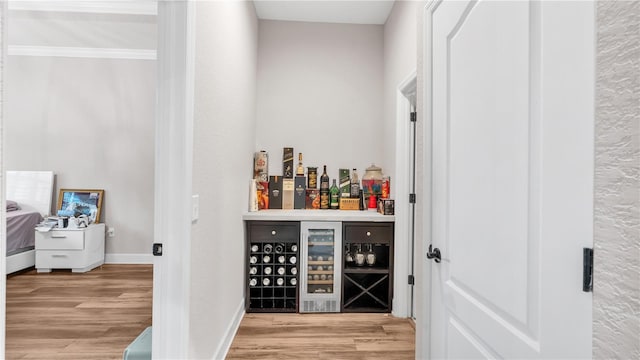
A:
{"type": "Polygon", "coordinates": [[[248,243],[247,311],[296,312],[298,239],[260,240],[253,239],[248,243]]]}

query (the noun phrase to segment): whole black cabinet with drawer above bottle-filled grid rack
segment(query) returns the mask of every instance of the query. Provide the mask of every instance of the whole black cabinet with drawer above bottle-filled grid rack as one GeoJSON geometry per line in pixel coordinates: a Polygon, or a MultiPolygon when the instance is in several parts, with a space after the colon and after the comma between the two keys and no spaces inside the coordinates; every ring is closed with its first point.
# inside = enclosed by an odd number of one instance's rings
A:
{"type": "Polygon", "coordinates": [[[297,312],[298,222],[247,223],[247,312],[297,312]]]}

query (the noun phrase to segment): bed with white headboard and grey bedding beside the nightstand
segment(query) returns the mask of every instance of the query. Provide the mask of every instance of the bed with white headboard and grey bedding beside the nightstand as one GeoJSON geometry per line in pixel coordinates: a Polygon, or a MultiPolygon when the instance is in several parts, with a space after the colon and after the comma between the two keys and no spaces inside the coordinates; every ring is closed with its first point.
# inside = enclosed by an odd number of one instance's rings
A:
{"type": "Polygon", "coordinates": [[[35,265],[34,228],[51,211],[53,171],[7,171],[7,274],[35,265]]]}

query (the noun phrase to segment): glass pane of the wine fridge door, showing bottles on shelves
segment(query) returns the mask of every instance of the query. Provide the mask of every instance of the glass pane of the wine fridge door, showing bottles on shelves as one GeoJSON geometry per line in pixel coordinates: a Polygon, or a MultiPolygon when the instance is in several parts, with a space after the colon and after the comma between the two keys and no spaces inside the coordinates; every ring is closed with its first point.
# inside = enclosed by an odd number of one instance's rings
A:
{"type": "Polygon", "coordinates": [[[307,241],[307,294],[332,294],[335,284],[334,229],[309,229],[307,241]]]}

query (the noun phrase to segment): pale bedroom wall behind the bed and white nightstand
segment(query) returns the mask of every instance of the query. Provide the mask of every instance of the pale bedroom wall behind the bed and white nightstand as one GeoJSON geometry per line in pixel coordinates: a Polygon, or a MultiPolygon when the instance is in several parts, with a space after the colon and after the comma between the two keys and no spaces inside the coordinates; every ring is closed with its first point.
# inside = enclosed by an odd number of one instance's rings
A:
{"type": "MultiPolygon", "coordinates": [[[[156,46],[155,16],[11,10],[8,26],[10,54],[16,45],[156,46]]],[[[5,170],[53,170],[54,204],[60,188],[104,189],[101,222],[115,228],[107,260],[144,259],[153,242],[155,61],[37,51],[8,57],[5,170]]]]}

